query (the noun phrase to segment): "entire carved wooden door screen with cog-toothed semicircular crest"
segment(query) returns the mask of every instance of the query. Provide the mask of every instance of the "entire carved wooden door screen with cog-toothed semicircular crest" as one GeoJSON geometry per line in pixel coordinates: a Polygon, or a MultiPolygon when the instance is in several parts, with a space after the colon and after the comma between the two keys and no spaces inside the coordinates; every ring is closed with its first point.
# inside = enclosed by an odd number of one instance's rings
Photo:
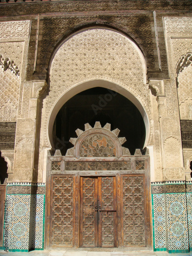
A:
{"type": "Polygon", "coordinates": [[[46,248],[151,249],[149,156],[131,156],[110,124],[76,133],[66,156],[48,156],[46,248]]]}

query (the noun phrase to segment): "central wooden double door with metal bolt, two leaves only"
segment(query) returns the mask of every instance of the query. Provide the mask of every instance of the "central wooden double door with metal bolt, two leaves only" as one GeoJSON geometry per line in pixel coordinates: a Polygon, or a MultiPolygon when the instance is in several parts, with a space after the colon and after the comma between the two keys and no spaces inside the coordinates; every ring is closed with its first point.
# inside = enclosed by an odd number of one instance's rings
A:
{"type": "Polygon", "coordinates": [[[116,246],[116,177],[80,177],[80,247],[116,246]]]}

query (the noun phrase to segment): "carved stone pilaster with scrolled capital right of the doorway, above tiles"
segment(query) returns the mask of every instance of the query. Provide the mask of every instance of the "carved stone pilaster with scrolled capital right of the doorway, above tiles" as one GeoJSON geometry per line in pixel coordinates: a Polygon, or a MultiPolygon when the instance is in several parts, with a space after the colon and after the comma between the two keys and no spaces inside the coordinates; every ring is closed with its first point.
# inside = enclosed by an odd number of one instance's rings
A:
{"type": "Polygon", "coordinates": [[[174,84],[171,84],[168,79],[166,81],[150,80],[150,88],[155,91],[158,102],[164,180],[184,180],[179,111],[174,109],[174,106],[178,105],[176,93],[171,94],[172,101],[175,103],[172,105],[168,98],[167,104],[167,95],[170,96],[171,91],[176,91],[173,87],[174,84]]]}

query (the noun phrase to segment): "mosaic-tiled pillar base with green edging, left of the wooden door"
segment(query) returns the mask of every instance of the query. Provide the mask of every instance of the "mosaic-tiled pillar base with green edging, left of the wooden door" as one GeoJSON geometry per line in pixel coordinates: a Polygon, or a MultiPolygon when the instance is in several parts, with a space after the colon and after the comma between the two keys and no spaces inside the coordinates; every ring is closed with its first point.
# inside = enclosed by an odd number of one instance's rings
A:
{"type": "Polygon", "coordinates": [[[44,249],[45,183],[8,183],[9,251],[44,249]]]}

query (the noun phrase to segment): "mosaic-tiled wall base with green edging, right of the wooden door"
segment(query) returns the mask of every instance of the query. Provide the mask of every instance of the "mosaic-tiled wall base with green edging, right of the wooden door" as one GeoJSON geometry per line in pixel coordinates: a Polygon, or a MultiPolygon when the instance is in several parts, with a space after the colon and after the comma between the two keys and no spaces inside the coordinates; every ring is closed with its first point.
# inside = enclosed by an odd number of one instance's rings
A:
{"type": "Polygon", "coordinates": [[[191,244],[191,223],[189,223],[189,215],[191,216],[192,213],[191,188],[191,192],[186,193],[185,181],[152,182],[155,251],[188,252],[191,244]]]}

